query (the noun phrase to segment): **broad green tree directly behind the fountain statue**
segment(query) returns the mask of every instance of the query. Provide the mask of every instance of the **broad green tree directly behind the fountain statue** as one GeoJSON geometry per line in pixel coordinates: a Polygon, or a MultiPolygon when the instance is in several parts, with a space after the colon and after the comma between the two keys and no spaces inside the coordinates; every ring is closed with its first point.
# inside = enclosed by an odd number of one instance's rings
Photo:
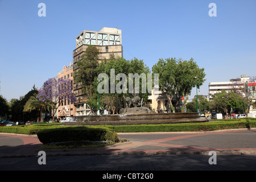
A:
{"type": "MultiPolygon", "coordinates": [[[[104,61],[99,66],[100,73],[105,73],[109,80],[108,80],[108,93],[100,94],[101,102],[108,109],[108,111],[112,110],[112,113],[117,113],[119,109],[123,107],[121,104],[122,101],[125,101],[126,97],[132,97],[132,93],[129,93],[129,73],[135,74],[138,73],[138,76],[144,73],[146,75],[147,79],[147,73],[150,73],[150,70],[144,64],[143,60],[138,60],[137,58],[134,58],[132,60],[126,60],[123,59],[123,57],[118,57],[117,59],[114,59],[112,57],[111,60],[104,61]],[[115,79],[112,77],[114,71],[114,77],[116,78],[120,73],[126,76],[126,85],[120,84],[122,78],[120,80],[115,79]],[[123,91],[121,93],[117,93],[117,90],[113,93],[113,90],[111,90],[111,86],[120,86],[120,89],[123,91]],[[126,93],[125,93],[126,92],[126,93]]],[[[100,80],[101,81],[101,80],[100,80]]],[[[135,82],[133,82],[133,88],[135,82]]],[[[146,82],[147,84],[147,82],[146,82]]],[[[146,86],[147,85],[143,85],[146,86]]],[[[104,88],[102,88],[104,89],[104,88]]],[[[148,93],[142,92],[142,81],[139,82],[139,97],[143,98],[144,101],[147,101],[148,93]]]]}

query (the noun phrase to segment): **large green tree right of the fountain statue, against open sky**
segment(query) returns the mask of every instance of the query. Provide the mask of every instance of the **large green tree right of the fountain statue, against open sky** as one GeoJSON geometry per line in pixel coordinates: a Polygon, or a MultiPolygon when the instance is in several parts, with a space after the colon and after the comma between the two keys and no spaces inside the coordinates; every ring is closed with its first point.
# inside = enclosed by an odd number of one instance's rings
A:
{"type": "Polygon", "coordinates": [[[185,97],[185,100],[187,100],[192,88],[196,84],[197,88],[200,88],[205,81],[204,68],[199,68],[192,58],[189,61],[177,60],[176,58],[160,59],[152,67],[152,72],[159,73],[159,89],[166,94],[168,105],[171,106],[172,110],[178,104],[176,102],[176,105],[174,105],[172,98],[176,96],[178,101],[181,97],[185,97]]]}

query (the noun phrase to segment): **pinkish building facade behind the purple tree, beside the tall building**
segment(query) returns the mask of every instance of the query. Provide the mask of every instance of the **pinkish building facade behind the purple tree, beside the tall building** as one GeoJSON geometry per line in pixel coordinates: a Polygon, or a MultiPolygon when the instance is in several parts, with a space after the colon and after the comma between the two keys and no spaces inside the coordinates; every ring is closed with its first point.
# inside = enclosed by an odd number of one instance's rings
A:
{"type": "MultiPolygon", "coordinates": [[[[57,73],[57,78],[69,79],[73,85],[73,63],[71,63],[68,67],[64,65],[63,70],[57,73]]],[[[57,117],[57,119],[72,117],[75,115],[76,107],[68,100],[62,101],[55,113],[55,117],[57,117]]]]}

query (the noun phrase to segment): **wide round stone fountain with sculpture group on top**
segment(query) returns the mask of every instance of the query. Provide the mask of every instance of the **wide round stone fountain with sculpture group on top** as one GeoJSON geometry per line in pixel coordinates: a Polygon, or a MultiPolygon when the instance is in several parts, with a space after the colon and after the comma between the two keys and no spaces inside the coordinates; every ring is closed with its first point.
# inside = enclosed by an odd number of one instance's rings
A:
{"type": "Polygon", "coordinates": [[[143,99],[138,95],[126,97],[126,108],[120,114],[84,115],[76,116],[73,122],[64,125],[141,125],[185,122],[208,122],[208,118],[201,118],[199,113],[152,113],[144,107],[143,99]]]}

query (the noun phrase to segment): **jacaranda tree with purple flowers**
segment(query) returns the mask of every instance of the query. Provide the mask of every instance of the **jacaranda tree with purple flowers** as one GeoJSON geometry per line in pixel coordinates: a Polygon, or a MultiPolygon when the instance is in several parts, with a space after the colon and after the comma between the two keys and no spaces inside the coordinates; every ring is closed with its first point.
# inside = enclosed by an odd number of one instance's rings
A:
{"type": "Polygon", "coordinates": [[[57,108],[61,105],[62,101],[67,100],[71,104],[76,102],[76,95],[72,90],[73,85],[69,79],[49,78],[44,82],[37,97],[39,98],[39,101],[44,103],[53,103],[52,120],[54,119],[57,108]]]}

